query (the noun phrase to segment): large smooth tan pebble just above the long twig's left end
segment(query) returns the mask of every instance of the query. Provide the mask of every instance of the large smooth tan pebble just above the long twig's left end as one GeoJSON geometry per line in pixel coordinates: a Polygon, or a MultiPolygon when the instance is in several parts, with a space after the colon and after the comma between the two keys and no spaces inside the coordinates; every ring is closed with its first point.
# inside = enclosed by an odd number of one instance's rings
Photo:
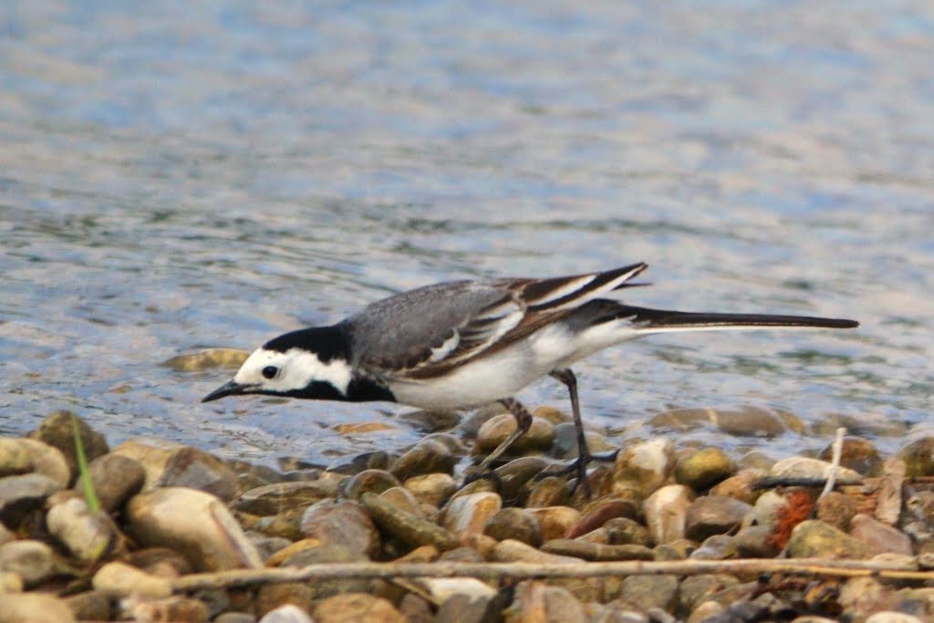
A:
{"type": "Polygon", "coordinates": [[[256,547],[227,507],[204,491],[172,487],[139,493],[126,505],[126,521],[139,544],[176,549],[196,569],[262,567],[256,547]]]}

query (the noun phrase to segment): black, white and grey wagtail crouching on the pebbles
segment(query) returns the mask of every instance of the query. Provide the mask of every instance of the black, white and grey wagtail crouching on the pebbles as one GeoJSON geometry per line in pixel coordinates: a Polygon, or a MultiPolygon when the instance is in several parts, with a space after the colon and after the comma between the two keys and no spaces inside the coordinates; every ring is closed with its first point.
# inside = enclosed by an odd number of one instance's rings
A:
{"type": "Polygon", "coordinates": [[[568,390],[587,497],[584,434],[571,366],[594,353],[653,333],[761,328],[852,329],[856,320],[774,314],[707,313],[626,304],[618,290],[648,265],[549,278],[448,281],[394,294],[330,326],[284,333],[248,356],[228,383],[203,403],[262,394],[298,399],[384,401],[428,410],[499,403],[516,429],[481,461],[484,473],[529,430],[520,389],[551,376],[568,390]]]}

